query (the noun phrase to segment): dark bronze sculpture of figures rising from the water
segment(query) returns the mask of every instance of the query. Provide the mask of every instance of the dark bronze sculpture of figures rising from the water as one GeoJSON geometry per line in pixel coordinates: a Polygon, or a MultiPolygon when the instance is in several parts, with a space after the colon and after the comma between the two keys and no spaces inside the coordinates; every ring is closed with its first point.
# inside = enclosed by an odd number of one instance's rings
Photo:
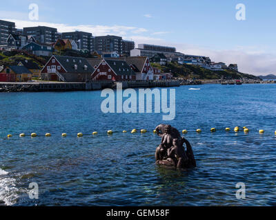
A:
{"type": "Polygon", "coordinates": [[[155,152],[156,164],[175,168],[193,168],[197,164],[190,142],[169,124],[160,124],[155,129],[162,138],[155,152]],[[186,144],[186,150],[183,144],[186,144]]]}

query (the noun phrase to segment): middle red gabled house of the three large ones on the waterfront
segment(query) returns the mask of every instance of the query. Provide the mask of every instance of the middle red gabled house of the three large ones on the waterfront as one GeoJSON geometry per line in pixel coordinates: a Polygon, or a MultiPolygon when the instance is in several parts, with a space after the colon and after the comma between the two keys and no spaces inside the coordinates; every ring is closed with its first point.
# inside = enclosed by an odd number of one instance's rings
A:
{"type": "Polygon", "coordinates": [[[91,76],[97,81],[126,81],[135,80],[135,72],[126,61],[101,59],[91,76]]]}

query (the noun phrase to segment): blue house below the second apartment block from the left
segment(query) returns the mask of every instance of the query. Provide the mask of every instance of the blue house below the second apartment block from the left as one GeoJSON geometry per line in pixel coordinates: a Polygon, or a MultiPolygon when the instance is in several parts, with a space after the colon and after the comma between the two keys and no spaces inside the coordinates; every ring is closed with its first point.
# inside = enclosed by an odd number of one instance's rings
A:
{"type": "Polygon", "coordinates": [[[26,50],[30,54],[37,56],[52,56],[53,49],[50,45],[39,44],[39,43],[28,43],[26,46],[22,47],[22,50],[26,50]]]}

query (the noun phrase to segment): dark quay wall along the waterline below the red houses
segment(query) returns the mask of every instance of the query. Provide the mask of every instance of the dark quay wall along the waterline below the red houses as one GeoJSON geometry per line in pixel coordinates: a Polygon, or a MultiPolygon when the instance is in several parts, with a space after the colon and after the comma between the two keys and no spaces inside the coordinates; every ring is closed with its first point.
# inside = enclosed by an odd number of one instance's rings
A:
{"type": "MultiPolygon", "coordinates": [[[[122,82],[123,88],[151,88],[151,87],[179,87],[178,80],[162,81],[128,81],[122,82]]],[[[115,88],[116,82],[88,82],[88,83],[58,83],[58,82],[34,82],[34,83],[0,83],[0,92],[21,91],[93,91],[106,88],[115,88]]]]}

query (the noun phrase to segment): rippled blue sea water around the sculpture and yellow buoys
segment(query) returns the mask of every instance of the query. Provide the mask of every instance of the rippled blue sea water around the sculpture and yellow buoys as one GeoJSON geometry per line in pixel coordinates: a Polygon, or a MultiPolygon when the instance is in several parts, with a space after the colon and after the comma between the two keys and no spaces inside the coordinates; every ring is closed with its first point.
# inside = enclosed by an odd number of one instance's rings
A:
{"type": "Polygon", "coordinates": [[[275,206],[276,85],[175,89],[171,122],[164,113],[102,113],[101,91],[0,94],[0,206],[275,206]],[[161,123],[188,129],[197,168],[155,165],[161,123]],[[239,182],[246,199],[236,197],[239,182]],[[31,183],[39,199],[30,199],[31,183]]]}

